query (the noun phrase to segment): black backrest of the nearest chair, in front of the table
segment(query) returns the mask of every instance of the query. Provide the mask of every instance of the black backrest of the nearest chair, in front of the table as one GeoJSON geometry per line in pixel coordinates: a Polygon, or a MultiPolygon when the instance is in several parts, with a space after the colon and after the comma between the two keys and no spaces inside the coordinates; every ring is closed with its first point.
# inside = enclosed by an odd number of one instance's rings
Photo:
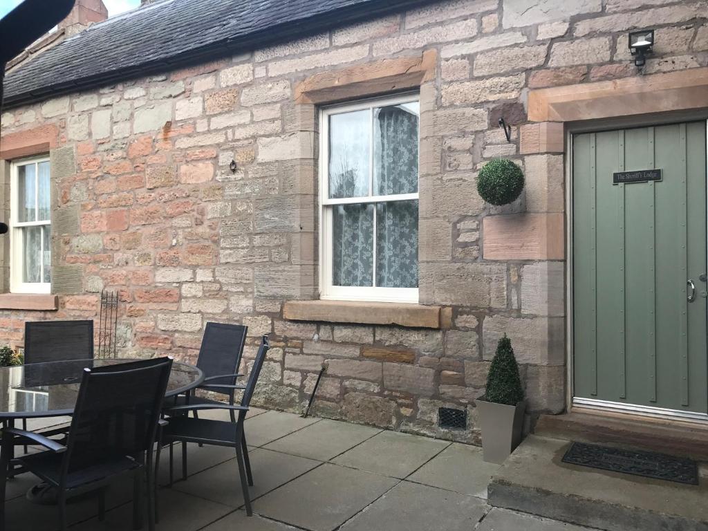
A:
{"type": "Polygon", "coordinates": [[[153,358],[84,369],[62,472],[152,450],[171,368],[153,358]]]}

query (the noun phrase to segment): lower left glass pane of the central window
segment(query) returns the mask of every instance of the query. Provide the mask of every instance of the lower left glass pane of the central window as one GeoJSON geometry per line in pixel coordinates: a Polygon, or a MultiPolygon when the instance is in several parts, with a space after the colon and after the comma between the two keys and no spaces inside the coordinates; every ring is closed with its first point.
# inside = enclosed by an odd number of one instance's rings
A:
{"type": "Polygon", "coordinates": [[[338,205],[332,218],[332,285],[371,286],[374,206],[338,205]]]}

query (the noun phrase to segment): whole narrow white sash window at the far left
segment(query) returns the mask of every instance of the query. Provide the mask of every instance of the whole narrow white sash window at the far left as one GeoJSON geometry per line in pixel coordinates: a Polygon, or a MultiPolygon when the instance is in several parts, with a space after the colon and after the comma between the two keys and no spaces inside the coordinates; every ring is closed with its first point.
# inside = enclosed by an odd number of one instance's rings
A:
{"type": "Polygon", "coordinates": [[[11,168],[10,290],[51,290],[51,193],[48,158],[16,161],[11,168]]]}

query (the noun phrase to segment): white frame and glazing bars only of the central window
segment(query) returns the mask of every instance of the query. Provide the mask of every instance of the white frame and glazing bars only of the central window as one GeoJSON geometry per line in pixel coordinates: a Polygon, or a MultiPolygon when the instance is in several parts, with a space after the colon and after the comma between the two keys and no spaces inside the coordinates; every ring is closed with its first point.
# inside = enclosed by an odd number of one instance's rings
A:
{"type": "MultiPolygon", "coordinates": [[[[320,299],[326,300],[352,300],[371,302],[404,302],[418,304],[418,287],[366,287],[366,286],[336,286],[332,284],[332,223],[333,206],[336,205],[360,205],[373,204],[379,202],[410,201],[419,199],[418,192],[401,195],[370,195],[362,198],[329,198],[329,117],[331,115],[350,113],[355,110],[371,109],[370,120],[373,120],[373,108],[386,105],[400,105],[401,103],[413,103],[420,101],[419,93],[406,93],[400,96],[371,98],[357,101],[355,103],[345,103],[341,105],[331,105],[321,108],[319,111],[319,291],[320,299]]],[[[374,156],[374,135],[373,122],[370,121],[369,147],[369,190],[373,190],[373,156],[374,156]]],[[[418,126],[418,147],[420,148],[420,125],[418,126]]],[[[418,150],[420,156],[420,150],[418,150]]],[[[420,164],[418,164],[418,186],[420,186],[420,164]]],[[[420,188],[418,188],[420,190],[420,188]]],[[[374,209],[374,239],[373,239],[373,278],[376,279],[376,209],[374,209]]],[[[420,238],[418,238],[420,241],[420,238]]],[[[420,254],[418,255],[420,256],[420,254]]]]}

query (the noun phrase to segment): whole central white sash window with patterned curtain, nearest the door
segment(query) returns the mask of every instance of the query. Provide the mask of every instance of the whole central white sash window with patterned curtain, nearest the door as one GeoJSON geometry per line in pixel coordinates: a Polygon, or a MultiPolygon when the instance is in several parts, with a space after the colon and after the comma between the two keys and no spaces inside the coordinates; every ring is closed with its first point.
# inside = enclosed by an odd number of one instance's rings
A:
{"type": "Polygon", "coordinates": [[[419,107],[321,110],[321,298],[418,302],[419,107]]]}

